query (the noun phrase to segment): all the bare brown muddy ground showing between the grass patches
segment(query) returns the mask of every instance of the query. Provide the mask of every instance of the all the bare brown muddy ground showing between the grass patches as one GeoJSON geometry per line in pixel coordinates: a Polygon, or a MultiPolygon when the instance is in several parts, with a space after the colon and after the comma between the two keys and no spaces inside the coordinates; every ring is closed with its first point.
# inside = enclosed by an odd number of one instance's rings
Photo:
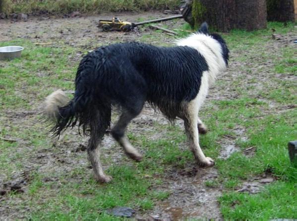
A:
{"type": "MultiPolygon", "coordinates": [[[[156,18],[165,16],[168,15],[164,15],[160,12],[145,12],[141,13],[141,15],[138,13],[119,14],[120,18],[129,21],[136,21],[139,17],[156,18]]],[[[33,43],[38,43],[40,45],[50,44],[53,46],[59,45],[59,41],[63,40],[70,46],[81,46],[86,51],[94,49],[97,46],[97,43],[102,45],[114,42],[138,41],[143,34],[153,34],[154,32],[149,28],[142,29],[141,31],[136,30],[130,33],[102,32],[96,27],[99,17],[102,19],[110,18],[109,15],[103,14],[100,16],[83,16],[74,18],[50,18],[48,16],[29,17],[27,22],[0,20],[0,41],[10,41],[22,38],[28,39],[33,43]],[[5,32],[3,32],[3,30],[5,30],[5,32]]],[[[167,21],[165,24],[167,24],[170,29],[174,29],[175,27],[180,27],[184,24],[184,21],[167,21]]],[[[163,34],[160,41],[163,43],[173,44],[175,39],[163,34]]],[[[150,43],[158,44],[157,41],[150,43]]],[[[276,41],[275,45],[271,45],[270,49],[274,50],[274,48],[279,47],[279,44],[280,43],[276,41]]],[[[239,54],[232,54],[232,56],[239,56],[239,54]]],[[[70,58],[70,60],[74,63],[80,60],[81,57],[82,53],[77,52],[77,56],[70,58]]],[[[240,66],[242,65],[245,64],[239,62],[230,63],[228,71],[219,76],[218,79],[219,81],[229,79],[229,81],[226,81],[227,85],[224,87],[219,86],[211,88],[208,100],[232,99],[238,96],[238,94],[230,88],[232,88],[232,80],[237,79],[240,72],[238,70],[240,70],[240,66]]],[[[268,63],[263,65],[271,64],[268,63]]],[[[259,75],[257,78],[265,80],[264,75],[259,75]]],[[[290,76],[288,78],[290,78],[290,76]]],[[[245,81],[247,80],[248,77],[245,81]]],[[[245,84],[246,82],[242,83],[243,86],[245,84]]],[[[256,87],[261,86],[260,84],[256,84],[256,87]]],[[[207,102],[206,105],[209,105],[209,102],[207,102]]],[[[16,125],[22,125],[22,127],[30,128],[30,125],[35,123],[36,114],[40,111],[39,102],[33,102],[32,106],[32,111],[11,110],[6,112],[2,117],[9,119],[9,122],[15,123],[16,125]]],[[[153,124],[151,124],[151,122],[155,121],[159,123],[161,122],[162,124],[168,124],[168,121],[162,115],[155,113],[151,107],[147,106],[133,121],[129,130],[136,134],[144,134],[144,132],[147,131],[154,131],[153,124]]],[[[177,124],[180,125],[180,127],[183,127],[181,121],[178,121],[177,124]]],[[[6,126],[9,127],[9,125],[6,126]]],[[[247,139],[244,128],[236,129],[235,133],[241,136],[242,139],[247,139]]],[[[72,169],[72,164],[80,164],[81,166],[86,167],[88,162],[84,147],[87,144],[87,138],[77,138],[77,131],[74,130],[67,131],[65,134],[67,135],[66,140],[61,137],[59,141],[55,143],[55,145],[59,148],[59,155],[53,154],[51,149],[46,148],[39,150],[37,156],[32,156],[29,159],[29,162],[26,163],[26,169],[24,169],[21,174],[16,173],[12,175],[12,177],[15,177],[14,179],[7,181],[7,177],[1,177],[0,175],[0,187],[2,187],[3,191],[6,191],[8,188],[14,188],[15,190],[25,192],[26,182],[30,180],[30,177],[26,174],[33,171],[35,168],[39,168],[41,173],[44,172],[50,174],[51,172],[68,173],[72,169]]],[[[65,136],[65,134],[63,136],[65,136]]],[[[157,139],[158,134],[155,134],[154,138],[157,139]]],[[[111,156],[111,159],[115,164],[125,158],[119,146],[115,144],[114,140],[110,136],[106,136],[103,143],[103,157],[111,156]],[[113,147],[113,151],[111,151],[111,147],[113,147]]],[[[27,148],[29,151],[30,147],[26,145],[26,142],[23,144],[24,145],[22,145],[21,148],[27,148]]],[[[220,141],[220,144],[223,147],[220,153],[221,158],[226,159],[234,151],[239,151],[238,147],[235,145],[235,139],[233,137],[226,137],[220,141]]],[[[187,148],[187,144],[184,145],[185,146],[182,148],[187,148]]],[[[107,168],[109,164],[110,162],[107,162],[104,166],[107,168]]],[[[165,175],[166,180],[164,184],[157,186],[156,188],[160,190],[169,190],[172,193],[170,197],[165,201],[160,202],[160,204],[157,204],[154,210],[148,211],[145,214],[136,213],[135,217],[139,219],[153,217],[157,220],[181,220],[185,218],[199,219],[205,217],[208,219],[220,219],[222,218],[222,215],[220,213],[217,197],[222,194],[223,189],[220,186],[211,188],[206,187],[204,184],[204,181],[214,179],[217,176],[218,172],[215,167],[206,169],[197,168],[194,164],[189,165],[189,168],[186,171],[169,171],[168,174],[165,175]]],[[[260,177],[259,179],[262,178],[263,177],[260,177]]],[[[259,186],[260,182],[257,182],[259,179],[253,180],[253,184],[259,186]]],[[[75,180],[72,181],[75,182],[75,180]]],[[[59,180],[57,180],[57,183],[57,185],[59,185],[59,180]]],[[[263,183],[265,183],[265,181],[263,183]]],[[[247,184],[246,188],[251,188],[251,186],[252,185],[247,184]]],[[[244,186],[242,188],[244,188],[244,186]]],[[[0,208],[0,219],[23,218],[24,212],[29,209],[29,206],[18,208],[17,203],[11,204],[10,202],[13,201],[13,198],[9,198],[8,195],[3,194],[0,200],[7,201],[7,207],[4,206],[0,208]],[[10,206],[8,206],[9,204],[10,206]]]]}

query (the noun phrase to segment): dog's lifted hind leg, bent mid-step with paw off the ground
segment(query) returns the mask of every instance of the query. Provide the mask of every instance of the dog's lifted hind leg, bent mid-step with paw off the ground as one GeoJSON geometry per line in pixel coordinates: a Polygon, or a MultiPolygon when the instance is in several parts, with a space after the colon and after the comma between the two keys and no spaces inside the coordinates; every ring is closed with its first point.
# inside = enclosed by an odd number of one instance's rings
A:
{"type": "Polygon", "coordinates": [[[119,142],[120,146],[123,147],[125,153],[131,159],[138,162],[142,160],[142,155],[129,142],[128,137],[125,135],[125,129],[130,121],[140,113],[141,109],[142,106],[141,108],[138,107],[136,108],[136,110],[134,109],[133,111],[123,110],[119,117],[119,121],[112,129],[113,137],[119,142]]]}

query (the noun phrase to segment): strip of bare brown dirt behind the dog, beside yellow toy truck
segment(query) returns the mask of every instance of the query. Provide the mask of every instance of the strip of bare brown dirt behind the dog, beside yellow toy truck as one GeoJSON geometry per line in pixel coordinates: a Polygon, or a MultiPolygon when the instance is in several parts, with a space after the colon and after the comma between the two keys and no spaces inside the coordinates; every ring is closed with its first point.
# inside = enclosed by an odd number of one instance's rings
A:
{"type": "MultiPolygon", "coordinates": [[[[98,27],[99,19],[111,19],[113,15],[100,14],[100,16],[74,17],[74,18],[50,18],[29,17],[27,22],[12,22],[0,19],[0,41],[10,41],[21,38],[33,43],[58,44],[60,40],[69,45],[97,46],[98,44],[110,44],[113,42],[124,42],[137,40],[142,34],[134,31],[130,33],[102,32],[98,27]],[[96,45],[97,42],[97,45],[96,45]],[[95,44],[94,44],[95,43],[95,44]]],[[[137,19],[152,19],[168,17],[160,12],[141,13],[119,13],[115,14],[123,21],[135,22],[137,19]]],[[[177,20],[176,20],[177,21],[177,20]]],[[[176,23],[168,21],[167,24],[176,23]]],[[[179,20],[178,23],[184,23],[179,20]]],[[[136,29],[137,30],[137,29],[136,29]]],[[[145,32],[152,32],[150,29],[145,32]]],[[[165,35],[166,37],[166,35],[165,35]]],[[[168,37],[168,36],[167,36],[168,37]]],[[[47,45],[45,44],[45,45],[47,45]]]]}

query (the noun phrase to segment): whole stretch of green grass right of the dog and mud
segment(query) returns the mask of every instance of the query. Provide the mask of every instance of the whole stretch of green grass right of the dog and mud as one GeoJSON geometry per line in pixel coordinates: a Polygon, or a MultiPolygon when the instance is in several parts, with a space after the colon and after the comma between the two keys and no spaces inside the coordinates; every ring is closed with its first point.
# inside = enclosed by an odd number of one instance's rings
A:
{"type": "MultiPolygon", "coordinates": [[[[241,54],[237,59],[246,63],[240,71],[257,74],[256,68],[253,71],[249,71],[249,68],[254,66],[253,62],[261,62],[257,60],[259,54],[261,59],[265,59],[266,62],[270,61],[274,65],[260,70],[270,72],[268,74],[269,82],[263,81],[264,87],[260,90],[254,89],[251,93],[248,90],[253,88],[244,89],[238,81],[234,83],[233,87],[236,88],[238,84],[239,87],[236,91],[243,97],[217,102],[220,111],[217,111],[213,117],[218,119],[221,124],[231,119],[235,125],[244,127],[248,140],[238,142],[238,146],[242,149],[248,147],[256,149],[252,157],[237,152],[227,160],[217,161],[217,167],[221,174],[220,179],[225,188],[231,189],[220,198],[222,214],[225,219],[297,218],[295,212],[297,206],[294,203],[297,199],[297,169],[291,165],[287,150],[288,141],[296,139],[297,110],[288,109],[286,112],[277,113],[270,111],[271,107],[267,105],[269,102],[275,102],[276,106],[284,107],[297,103],[296,84],[276,75],[278,73],[296,75],[296,65],[294,65],[296,59],[293,46],[281,47],[276,54],[263,51],[263,45],[274,41],[270,39],[271,28],[275,29],[277,33],[285,35],[286,32],[293,31],[293,24],[283,27],[281,23],[268,23],[268,29],[264,31],[251,33],[233,31],[226,36],[227,42],[233,48],[232,52],[241,54]],[[238,42],[242,44],[238,44],[238,42]],[[249,94],[249,98],[244,98],[246,94],[249,94]],[[258,100],[259,97],[261,101],[258,100]],[[240,186],[242,181],[267,171],[272,173],[278,181],[265,186],[263,192],[254,195],[234,192],[233,189],[240,186]]],[[[250,81],[250,83],[255,82],[255,80],[250,81]]]]}

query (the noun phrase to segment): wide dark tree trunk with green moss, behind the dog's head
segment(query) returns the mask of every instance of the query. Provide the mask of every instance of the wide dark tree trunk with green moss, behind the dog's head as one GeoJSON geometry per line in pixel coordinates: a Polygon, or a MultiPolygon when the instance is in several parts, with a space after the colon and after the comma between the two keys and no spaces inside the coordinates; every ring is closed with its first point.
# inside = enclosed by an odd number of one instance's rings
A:
{"type": "Polygon", "coordinates": [[[266,27],[266,0],[193,0],[191,8],[195,27],[204,21],[220,32],[266,27]]]}

